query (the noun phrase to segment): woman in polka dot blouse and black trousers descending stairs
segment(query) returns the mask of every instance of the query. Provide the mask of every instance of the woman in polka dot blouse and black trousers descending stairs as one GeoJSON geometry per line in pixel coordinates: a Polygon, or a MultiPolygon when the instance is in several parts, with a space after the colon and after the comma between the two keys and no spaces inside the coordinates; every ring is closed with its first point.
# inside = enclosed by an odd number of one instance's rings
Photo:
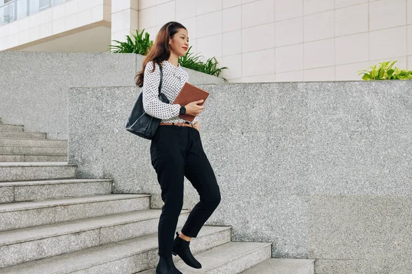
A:
{"type": "Polygon", "coordinates": [[[157,274],[181,273],[172,260],[179,255],[183,262],[195,269],[202,265],[190,251],[190,240],[196,238],[199,230],[220,203],[220,189],[214,171],[203,151],[198,114],[204,106],[201,101],[187,105],[174,104],[188,74],[178,63],[189,48],[187,29],[180,23],[169,22],[159,30],[154,45],[137,73],[137,86],[143,87],[144,110],[150,116],[161,119],[150,145],[152,166],[161,186],[164,202],[158,227],[159,264],[157,274]],[[161,92],[170,103],[159,100],[160,67],[163,77],[161,92]],[[193,122],[180,118],[180,114],[196,116],[193,122]],[[183,180],[186,177],[196,188],[200,201],[194,206],[181,233],[176,230],[183,206],[183,180]],[[174,238],[174,239],[173,239],[174,238]]]}

